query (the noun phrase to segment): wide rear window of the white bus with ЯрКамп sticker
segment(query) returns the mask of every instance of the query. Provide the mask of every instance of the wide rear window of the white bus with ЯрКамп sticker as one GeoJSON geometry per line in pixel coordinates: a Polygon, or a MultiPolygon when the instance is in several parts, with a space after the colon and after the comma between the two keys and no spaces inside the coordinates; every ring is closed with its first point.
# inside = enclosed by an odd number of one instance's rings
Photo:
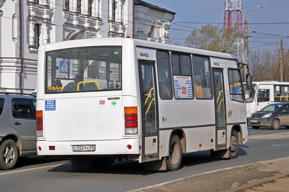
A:
{"type": "Polygon", "coordinates": [[[121,90],[120,46],[46,52],[45,93],[121,90]]]}

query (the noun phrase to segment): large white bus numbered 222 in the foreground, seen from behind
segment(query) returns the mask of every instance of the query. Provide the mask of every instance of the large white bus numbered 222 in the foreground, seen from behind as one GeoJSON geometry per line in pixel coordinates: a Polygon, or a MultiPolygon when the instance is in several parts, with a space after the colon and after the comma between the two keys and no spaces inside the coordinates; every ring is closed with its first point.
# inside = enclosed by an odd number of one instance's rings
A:
{"type": "Polygon", "coordinates": [[[248,139],[239,68],[230,54],[131,38],[41,45],[38,155],[170,171],[182,153],[233,159],[248,139]]]}

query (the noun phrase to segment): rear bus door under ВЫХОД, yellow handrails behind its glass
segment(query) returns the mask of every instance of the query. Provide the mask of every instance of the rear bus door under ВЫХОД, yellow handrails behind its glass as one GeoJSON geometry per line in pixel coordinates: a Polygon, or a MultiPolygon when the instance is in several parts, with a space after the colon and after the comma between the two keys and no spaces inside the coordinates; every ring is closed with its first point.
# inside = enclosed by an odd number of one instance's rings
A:
{"type": "Polygon", "coordinates": [[[138,61],[140,79],[140,110],[142,161],[159,158],[158,101],[154,61],[138,61]]]}

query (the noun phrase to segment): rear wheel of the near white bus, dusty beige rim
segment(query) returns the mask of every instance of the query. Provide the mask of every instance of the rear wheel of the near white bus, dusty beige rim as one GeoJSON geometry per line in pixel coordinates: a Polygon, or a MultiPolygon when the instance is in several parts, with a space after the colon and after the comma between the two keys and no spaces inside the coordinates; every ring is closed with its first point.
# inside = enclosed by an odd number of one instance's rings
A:
{"type": "Polygon", "coordinates": [[[181,165],[183,153],[181,148],[181,140],[177,135],[172,134],[169,147],[169,154],[168,157],[166,157],[166,168],[168,171],[176,171],[181,165]]]}

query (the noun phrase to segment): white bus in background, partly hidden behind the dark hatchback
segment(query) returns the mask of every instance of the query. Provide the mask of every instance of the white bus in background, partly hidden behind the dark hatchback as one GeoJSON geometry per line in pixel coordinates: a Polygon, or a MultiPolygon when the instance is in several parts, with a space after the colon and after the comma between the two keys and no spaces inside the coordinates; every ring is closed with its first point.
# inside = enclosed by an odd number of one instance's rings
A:
{"type": "Polygon", "coordinates": [[[252,88],[245,86],[247,118],[274,102],[289,102],[289,82],[253,81],[252,88]]]}

